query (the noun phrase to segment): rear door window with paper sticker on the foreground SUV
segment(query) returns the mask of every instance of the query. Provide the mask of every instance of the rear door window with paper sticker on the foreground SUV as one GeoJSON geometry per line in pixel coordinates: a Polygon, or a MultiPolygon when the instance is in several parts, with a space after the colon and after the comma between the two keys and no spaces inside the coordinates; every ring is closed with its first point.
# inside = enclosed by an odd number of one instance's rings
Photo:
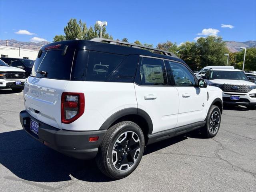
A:
{"type": "Polygon", "coordinates": [[[143,57],[140,78],[142,85],[168,85],[164,61],[143,57]]]}

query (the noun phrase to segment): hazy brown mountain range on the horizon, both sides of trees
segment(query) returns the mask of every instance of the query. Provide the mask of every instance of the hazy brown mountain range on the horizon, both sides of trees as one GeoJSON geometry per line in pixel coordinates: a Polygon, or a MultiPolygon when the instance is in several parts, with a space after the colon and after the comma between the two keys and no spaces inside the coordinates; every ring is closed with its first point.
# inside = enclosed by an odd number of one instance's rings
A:
{"type": "MultiPolygon", "coordinates": [[[[40,47],[48,43],[50,42],[42,41],[42,42],[35,43],[35,42],[21,42],[15,39],[8,40],[8,46],[32,49],[36,51],[40,50],[40,47]]],[[[6,40],[0,40],[0,45],[5,46],[6,40]]],[[[246,48],[256,47],[256,41],[246,41],[246,42],[226,41],[226,47],[228,48],[228,50],[230,50],[230,52],[238,52],[240,51],[240,47],[246,47],[246,48]]]]}

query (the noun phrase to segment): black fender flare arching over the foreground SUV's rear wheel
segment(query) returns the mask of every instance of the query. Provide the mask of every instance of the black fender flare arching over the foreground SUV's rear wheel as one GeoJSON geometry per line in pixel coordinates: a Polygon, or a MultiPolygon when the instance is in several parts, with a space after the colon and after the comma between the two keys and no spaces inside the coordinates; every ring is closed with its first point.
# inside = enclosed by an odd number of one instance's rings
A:
{"type": "Polygon", "coordinates": [[[142,118],[144,118],[148,124],[148,134],[151,134],[153,132],[153,123],[150,118],[150,116],[142,109],[139,108],[125,108],[118,112],[115,112],[112,114],[109,118],[106,119],[106,121],[102,124],[100,127],[100,130],[106,130],[110,128],[110,126],[119,118],[122,118],[127,115],[138,115],[142,118]]]}

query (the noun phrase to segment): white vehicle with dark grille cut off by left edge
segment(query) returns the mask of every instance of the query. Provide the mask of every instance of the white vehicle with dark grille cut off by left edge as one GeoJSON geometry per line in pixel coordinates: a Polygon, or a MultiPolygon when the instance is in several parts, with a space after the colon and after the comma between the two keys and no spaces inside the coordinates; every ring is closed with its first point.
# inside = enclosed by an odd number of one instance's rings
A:
{"type": "Polygon", "coordinates": [[[14,91],[22,91],[26,81],[25,71],[10,67],[5,62],[0,60],[0,89],[11,88],[14,91]]]}

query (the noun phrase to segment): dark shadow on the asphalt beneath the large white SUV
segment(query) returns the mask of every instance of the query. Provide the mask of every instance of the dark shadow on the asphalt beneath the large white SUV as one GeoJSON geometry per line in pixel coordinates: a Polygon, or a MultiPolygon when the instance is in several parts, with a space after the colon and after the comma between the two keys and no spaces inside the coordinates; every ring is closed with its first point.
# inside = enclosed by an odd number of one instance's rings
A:
{"type": "MultiPolygon", "coordinates": [[[[186,137],[178,136],[149,145],[144,155],[160,150],[186,137]]],[[[56,152],[34,140],[24,130],[0,133],[0,163],[23,180],[59,182],[78,180],[109,182],[97,168],[95,160],[78,160],[56,152]]],[[[10,176],[2,176],[10,179],[10,176]]]]}

